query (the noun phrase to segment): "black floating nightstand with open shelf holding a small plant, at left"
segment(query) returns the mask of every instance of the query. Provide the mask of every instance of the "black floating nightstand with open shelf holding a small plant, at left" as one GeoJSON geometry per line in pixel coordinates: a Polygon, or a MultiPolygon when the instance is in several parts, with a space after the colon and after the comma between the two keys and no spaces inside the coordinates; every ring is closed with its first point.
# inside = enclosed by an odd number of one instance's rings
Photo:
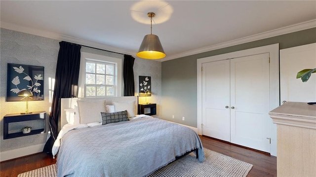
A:
{"type": "Polygon", "coordinates": [[[3,139],[10,139],[16,137],[23,137],[28,135],[35,135],[40,133],[45,133],[45,121],[48,118],[48,114],[45,111],[33,112],[31,114],[6,114],[3,117],[3,139]],[[22,132],[17,133],[8,133],[9,132],[9,123],[13,124],[14,122],[23,122],[23,121],[32,121],[32,120],[43,120],[43,128],[31,130],[30,133],[23,134],[22,132]]]}

